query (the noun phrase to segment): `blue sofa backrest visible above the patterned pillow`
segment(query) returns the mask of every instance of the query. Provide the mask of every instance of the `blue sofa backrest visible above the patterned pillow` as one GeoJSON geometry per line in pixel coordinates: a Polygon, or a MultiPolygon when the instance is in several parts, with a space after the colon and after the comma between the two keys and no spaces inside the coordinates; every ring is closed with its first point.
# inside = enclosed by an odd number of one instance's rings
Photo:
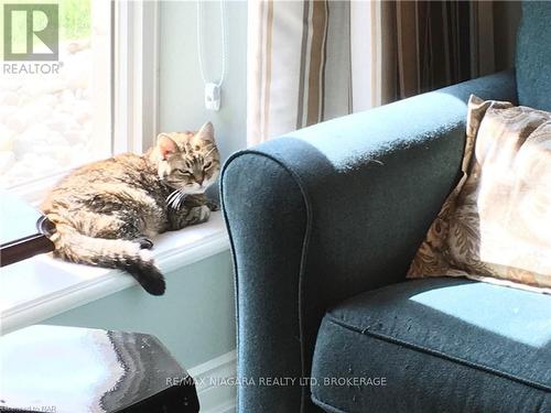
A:
{"type": "Polygon", "coordinates": [[[522,2],[517,39],[519,104],[551,110],[551,2],[522,2]]]}

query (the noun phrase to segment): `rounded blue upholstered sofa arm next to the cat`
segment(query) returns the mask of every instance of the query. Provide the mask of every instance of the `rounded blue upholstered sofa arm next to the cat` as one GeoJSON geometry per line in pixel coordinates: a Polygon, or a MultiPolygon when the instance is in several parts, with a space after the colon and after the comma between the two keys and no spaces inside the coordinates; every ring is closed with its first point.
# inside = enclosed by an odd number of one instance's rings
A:
{"type": "Polygon", "coordinates": [[[320,123],[226,162],[238,376],[251,380],[239,388],[240,412],[314,409],[299,380],[310,374],[324,312],[404,279],[456,183],[469,94],[516,100],[515,90],[512,74],[501,73],[320,123]]]}

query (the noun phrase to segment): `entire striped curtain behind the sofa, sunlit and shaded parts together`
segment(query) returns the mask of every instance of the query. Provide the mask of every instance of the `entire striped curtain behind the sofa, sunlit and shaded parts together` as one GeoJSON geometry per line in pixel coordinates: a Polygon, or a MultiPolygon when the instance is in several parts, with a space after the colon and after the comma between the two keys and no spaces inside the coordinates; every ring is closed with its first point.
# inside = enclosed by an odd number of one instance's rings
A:
{"type": "Polygon", "coordinates": [[[249,0],[248,144],[491,72],[491,2],[249,0]]]}

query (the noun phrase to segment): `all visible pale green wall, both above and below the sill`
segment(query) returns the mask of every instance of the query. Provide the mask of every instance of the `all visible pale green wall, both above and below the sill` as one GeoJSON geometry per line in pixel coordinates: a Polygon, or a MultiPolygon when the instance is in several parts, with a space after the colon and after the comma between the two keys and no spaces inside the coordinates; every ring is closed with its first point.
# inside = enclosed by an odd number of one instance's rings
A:
{"type": "MultiPolygon", "coordinates": [[[[224,159],[246,144],[247,3],[227,2],[227,73],[218,112],[204,107],[197,62],[196,2],[160,3],[160,130],[193,130],[213,121],[224,159]]],[[[207,72],[219,70],[219,3],[204,2],[207,72]]],[[[234,284],[229,252],[166,274],[166,294],[131,287],[43,324],[154,334],[191,368],[235,348],[234,284]]]]}

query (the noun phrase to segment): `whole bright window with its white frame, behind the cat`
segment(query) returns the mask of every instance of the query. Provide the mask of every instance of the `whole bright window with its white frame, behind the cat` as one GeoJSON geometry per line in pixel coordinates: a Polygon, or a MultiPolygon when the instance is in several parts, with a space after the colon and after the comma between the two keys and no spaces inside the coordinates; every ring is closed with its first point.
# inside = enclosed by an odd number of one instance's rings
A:
{"type": "MultiPolygon", "coordinates": [[[[10,2],[55,4],[58,13],[55,61],[7,61],[3,51],[0,70],[0,187],[37,204],[72,169],[151,144],[156,132],[158,4],[10,2]]],[[[14,52],[29,52],[28,12],[11,11],[14,52]]],[[[47,13],[34,11],[31,32],[46,24],[47,13]]],[[[46,43],[33,33],[31,52],[50,53],[46,43]]]]}

